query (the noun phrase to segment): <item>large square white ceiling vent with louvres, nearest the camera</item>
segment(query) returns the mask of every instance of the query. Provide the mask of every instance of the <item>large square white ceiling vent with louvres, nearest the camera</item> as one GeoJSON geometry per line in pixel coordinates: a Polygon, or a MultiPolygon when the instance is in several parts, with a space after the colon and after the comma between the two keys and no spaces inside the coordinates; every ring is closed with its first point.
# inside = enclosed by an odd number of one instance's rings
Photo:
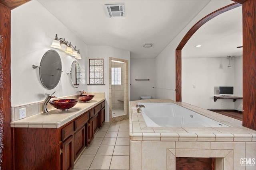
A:
{"type": "Polygon", "coordinates": [[[105,7],[108,17],[124,17],[124,4],[107,4],[105,7]]]}

